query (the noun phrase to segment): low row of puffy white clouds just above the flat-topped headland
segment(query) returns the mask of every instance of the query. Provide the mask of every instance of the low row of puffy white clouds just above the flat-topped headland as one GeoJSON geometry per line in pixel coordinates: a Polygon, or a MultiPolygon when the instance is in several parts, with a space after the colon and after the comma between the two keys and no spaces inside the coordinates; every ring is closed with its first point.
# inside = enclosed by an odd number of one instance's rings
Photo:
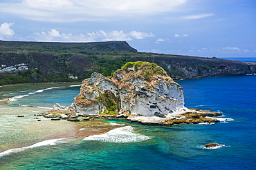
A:
{"type": "Polygon", "coordinates": [[[133,39],[145,39],[154,37],[153,33],[131,31],[123,32],[122,30],[114,30],[105,32],[100,30],[97,32],[86,32],[85,34],[61,33],[52,29],[46,32],[35,32],[34,39],[36,41],[63,41],[63,42],[93,42],[93,41],[132,41],[133,39]]]}

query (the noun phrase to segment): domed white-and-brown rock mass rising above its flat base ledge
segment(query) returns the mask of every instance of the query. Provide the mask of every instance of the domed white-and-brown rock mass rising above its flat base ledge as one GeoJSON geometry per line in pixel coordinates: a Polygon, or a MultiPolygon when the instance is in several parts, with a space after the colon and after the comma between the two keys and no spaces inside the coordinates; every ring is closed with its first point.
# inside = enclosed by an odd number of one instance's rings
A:
{"type": "Polygon", "coordinates": [[[136,70],[134,65],[118,70],[113,78],[93,73],[89,80],[83,82],[81,92],[75,98],[76,111],[82,114],[116,111],[118,114],[147,117],[172,117],[188,111],[184,107],[182,87],[167,76],[161,67],[140,63],[141,69],[144,69],[140,72],[140,67],[136,70]],[[146,71],[144,67],[147,67],[146,71]],[[148,74],[148,67],[160,70],[161,74],[148,74]]]}

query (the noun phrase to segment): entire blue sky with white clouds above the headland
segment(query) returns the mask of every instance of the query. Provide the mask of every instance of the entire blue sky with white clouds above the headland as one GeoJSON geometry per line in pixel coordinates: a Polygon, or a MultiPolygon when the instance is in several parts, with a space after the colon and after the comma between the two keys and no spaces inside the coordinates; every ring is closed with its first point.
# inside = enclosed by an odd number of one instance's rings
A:
{"type": "Polygon", "coordinates": [[[256,57],[256,1],[0,0],[0,40],[127,41],[138,52],[256,57]]]}

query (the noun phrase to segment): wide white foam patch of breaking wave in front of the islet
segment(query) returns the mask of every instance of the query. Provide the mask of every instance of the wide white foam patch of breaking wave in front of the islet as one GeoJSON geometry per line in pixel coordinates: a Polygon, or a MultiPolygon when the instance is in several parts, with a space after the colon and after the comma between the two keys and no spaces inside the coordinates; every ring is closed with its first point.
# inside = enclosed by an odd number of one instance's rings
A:
{"type": "Polygon", "coordinates": [[[134,128],[131,126],[119,127],[113,129],[106,134],[93,135],[84,138],[83,140],[98,140],[101,142],[116,142],[116,143],[126,143],[126,142],[141,142],[143,140],[149,140],[150,137],[134,133],[134,128]]]}

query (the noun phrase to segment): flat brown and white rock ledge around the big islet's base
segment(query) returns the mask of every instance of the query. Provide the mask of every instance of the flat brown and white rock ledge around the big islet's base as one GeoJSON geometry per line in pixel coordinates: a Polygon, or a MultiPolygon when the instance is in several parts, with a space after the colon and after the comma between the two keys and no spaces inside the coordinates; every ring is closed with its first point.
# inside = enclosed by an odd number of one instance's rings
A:
{"type": "Polygon", "coordinates": [[[144,125],[178,125],[178,124],[199,124],[199,123],[217,123],[219,120],[214,117],[222,116],[223,114],[219,112],[212,112],[209,110],[201,110],[189,108],[189,111],[184,114],[172,116],[172,117],[147,117],[140,115],[131,114],[119,114],[119,115],[109,115],[109,114],[98,114],[98,115],[86,115],[79,114],[71,110],[60,110],[52,109],[44,114],[39,114],[37,116],[44,116],[45,118],[51,118],[51,120],[68,120],[74,122],[89,121],[95,119],[108,119],[108,118],[125,118],[130,122],[137,122],[144,125]]]}

